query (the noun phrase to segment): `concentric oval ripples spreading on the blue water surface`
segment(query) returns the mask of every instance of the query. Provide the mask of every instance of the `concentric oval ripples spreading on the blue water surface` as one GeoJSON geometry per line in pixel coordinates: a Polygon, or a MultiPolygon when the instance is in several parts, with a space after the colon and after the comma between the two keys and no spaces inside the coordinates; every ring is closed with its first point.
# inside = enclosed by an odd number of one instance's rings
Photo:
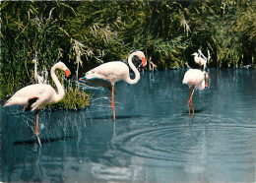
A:
{"type": "Polygon", "coordinates": [[[255,125],[238,125],[231,119],[221,118],[212,123],[205,120],[179,125],[169,121],[165,119],[158,121],[159,126],[120,134],[113,145],[117,151],[131,155],[180,162],[204,159],[207,162],[242,163],[254,158],[255,125]]]}

